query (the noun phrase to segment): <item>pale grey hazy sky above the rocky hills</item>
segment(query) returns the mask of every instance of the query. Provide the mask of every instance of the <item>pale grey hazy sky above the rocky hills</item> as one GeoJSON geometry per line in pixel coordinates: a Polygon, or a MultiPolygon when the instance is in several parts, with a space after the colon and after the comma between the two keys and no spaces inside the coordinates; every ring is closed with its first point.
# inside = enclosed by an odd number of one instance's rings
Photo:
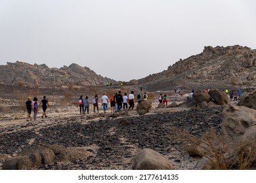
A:
{"type": "Polygon", "coordinates": [[[256,48],[255,0],[0,0],[0,65],[77,63],[129,81],[235,44],[256,48]]]}

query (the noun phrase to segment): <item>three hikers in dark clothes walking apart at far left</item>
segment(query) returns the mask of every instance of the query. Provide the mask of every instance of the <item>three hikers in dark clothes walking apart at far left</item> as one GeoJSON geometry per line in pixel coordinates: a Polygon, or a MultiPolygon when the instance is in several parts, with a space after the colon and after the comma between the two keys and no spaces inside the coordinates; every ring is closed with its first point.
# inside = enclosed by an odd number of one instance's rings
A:
{"type": "Polygon", "coordinates": [[[47,118],[46,109],[47,109],[47,107],[50,107],[50,105],[49,105],[46,97],[43,96],[43,99],[41,100],[40,103],[38,103],[38,99],[36,96],[33,97],[33,101],[32,101],[31,97],[28,97],[28,100],[26,101],[26,104],[24,106],[24,112],[25,112],[25,110],[28,111],[27,121],[32,120],[32,117],[31,117],[32,110],[33,110],[33,120],[34,121],[36,120],[40,105],[42,105],[42,108],[43,108],[43,115],[41,116],[41,118],[43,118],[43,116],[45,116],[45,118],[47,118]]]}

